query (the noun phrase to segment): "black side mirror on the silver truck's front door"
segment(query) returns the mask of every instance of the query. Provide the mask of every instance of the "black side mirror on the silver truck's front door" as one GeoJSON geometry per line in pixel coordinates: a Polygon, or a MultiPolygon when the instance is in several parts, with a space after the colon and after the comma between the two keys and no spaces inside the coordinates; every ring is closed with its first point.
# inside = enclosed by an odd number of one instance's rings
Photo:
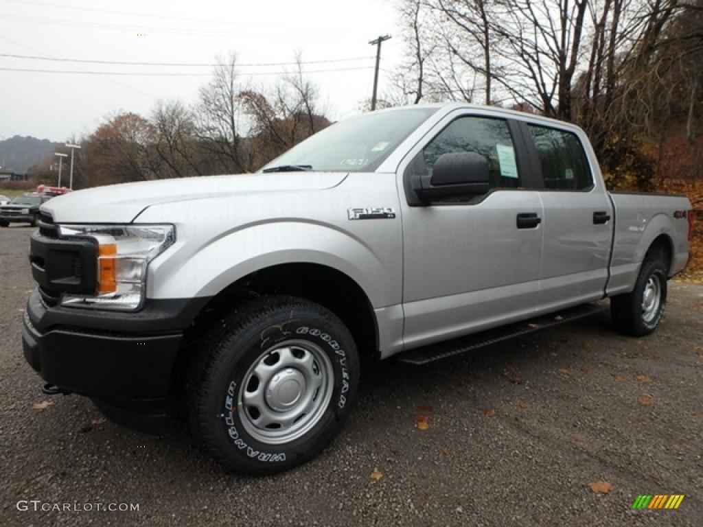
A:
{"type": "Polygon", "coordinates": [[[425,203],[462,194],[481,195],[489,191],[488,162],[476,152],[442,154],[434,162],[430,185],[418,181],[414,188],[425,203]]]}

